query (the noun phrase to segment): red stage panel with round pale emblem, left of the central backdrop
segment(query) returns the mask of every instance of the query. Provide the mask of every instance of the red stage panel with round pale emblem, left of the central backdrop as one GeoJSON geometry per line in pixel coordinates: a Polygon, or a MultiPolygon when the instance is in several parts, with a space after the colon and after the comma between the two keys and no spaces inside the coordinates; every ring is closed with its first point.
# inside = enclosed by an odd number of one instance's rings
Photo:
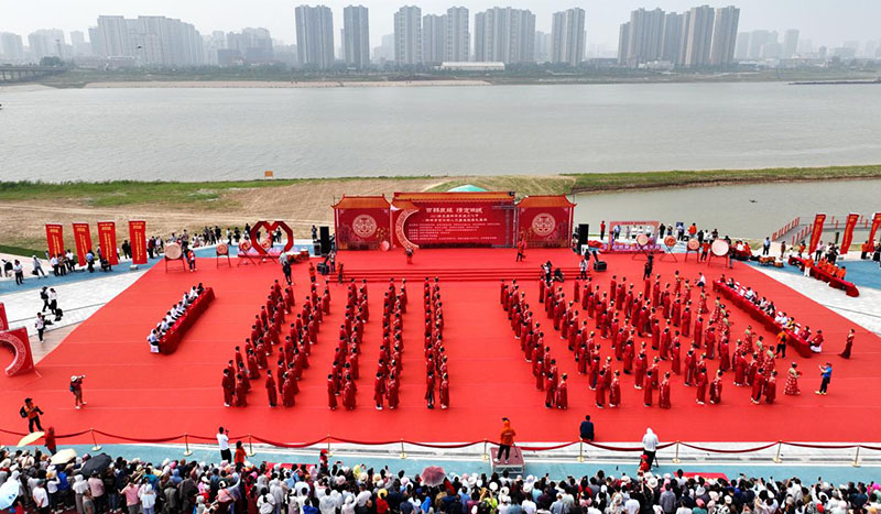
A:
{"type": "Polygon", "coordinates": [[[340,250],[378,249],[390,241],[391,206],[385,195],[346,196],[334,205],[337,248],[340,250]]]}

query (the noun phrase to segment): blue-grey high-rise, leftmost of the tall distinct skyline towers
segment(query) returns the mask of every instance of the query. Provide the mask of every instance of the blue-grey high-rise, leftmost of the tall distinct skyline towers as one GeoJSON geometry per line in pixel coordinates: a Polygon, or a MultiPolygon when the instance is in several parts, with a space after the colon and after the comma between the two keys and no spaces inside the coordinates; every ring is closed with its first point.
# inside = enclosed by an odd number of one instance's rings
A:
{"type": "Polygon", "coordinates": [[[301,66],[327,69],[334,65],[334,13],[326,6],[300,6],[296,20],[296,54],[301,66]]]}

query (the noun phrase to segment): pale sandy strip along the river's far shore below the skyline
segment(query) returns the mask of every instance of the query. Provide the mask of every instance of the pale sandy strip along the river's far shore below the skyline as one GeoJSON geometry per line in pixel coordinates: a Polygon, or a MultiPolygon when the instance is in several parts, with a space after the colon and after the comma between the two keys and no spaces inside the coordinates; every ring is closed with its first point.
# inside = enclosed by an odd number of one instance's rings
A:
{"type": "Polygon", "coordinates": [[[328,88],[328,87],[438,87],[438,86],[491,86],[485,80],[325,80],[325,81],[281,81],[281,80],[143,80],[119,83],[89,83],[89,89],[107,88],[328,88]]]}

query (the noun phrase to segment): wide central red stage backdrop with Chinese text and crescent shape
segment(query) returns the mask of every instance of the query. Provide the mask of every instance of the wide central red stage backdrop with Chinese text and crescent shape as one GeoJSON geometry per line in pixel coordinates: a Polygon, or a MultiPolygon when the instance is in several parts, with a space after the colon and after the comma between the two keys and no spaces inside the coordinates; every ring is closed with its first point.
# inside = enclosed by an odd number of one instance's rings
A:
{"type": "Polygon", "coordinates": [[[512,247],[513,193],[395,193],[394,243],[399,247],[512,247]]]}

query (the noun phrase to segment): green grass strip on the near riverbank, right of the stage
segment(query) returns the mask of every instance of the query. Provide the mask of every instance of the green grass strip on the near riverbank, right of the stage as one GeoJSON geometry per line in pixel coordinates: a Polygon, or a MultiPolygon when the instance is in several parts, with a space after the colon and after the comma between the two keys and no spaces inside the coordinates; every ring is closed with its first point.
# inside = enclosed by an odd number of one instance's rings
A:
{"type": "Polygon", "coordinates": [[[708,184],[878,178],[881,165],[828,167],[772,167],[763,169],[708,169],[698,172],[634,172],[567,174],[575,178],[572,192],[644,189],[708,184]]]}

